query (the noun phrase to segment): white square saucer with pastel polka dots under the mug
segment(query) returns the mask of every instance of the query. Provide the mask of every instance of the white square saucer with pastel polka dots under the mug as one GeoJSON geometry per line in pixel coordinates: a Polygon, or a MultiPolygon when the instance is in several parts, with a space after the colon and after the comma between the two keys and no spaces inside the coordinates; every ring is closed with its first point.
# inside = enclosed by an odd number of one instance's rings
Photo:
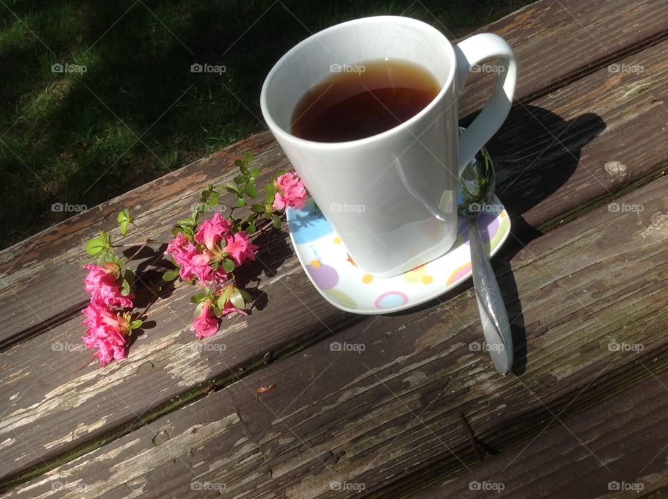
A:
{"type": "MultiPolygon", "coordinates": [[[[510,233],[510,219],[494,196],[478,217],[482,241],[495,255],[510,233]]],[[[471,275],[469,222],[459,217],[459,235],[447,253],[413,270],[378,278],[359,269],[324,214],[309,198],[302,209],[287,209],[292,246],[315,289],[333,306],[357,314],[411,308],[452,290],[471,275]]]]}

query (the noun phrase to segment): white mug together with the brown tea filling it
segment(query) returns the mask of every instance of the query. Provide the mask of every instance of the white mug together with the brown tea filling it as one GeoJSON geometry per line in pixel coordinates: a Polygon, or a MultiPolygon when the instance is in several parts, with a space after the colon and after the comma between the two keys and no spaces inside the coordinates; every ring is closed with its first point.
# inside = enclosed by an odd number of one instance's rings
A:
{"type": "Polygon", "coordinates": [[[269,129],[358,267],[378,277],[446,253],[457,235],[457,184],[499,129],[517,65],[491,33],[452,45],[408,17],[337,24],[293,47],[262,86],[269,129]],[[497,78],[459,134],[457,99],[479,63],[497,78]]]}

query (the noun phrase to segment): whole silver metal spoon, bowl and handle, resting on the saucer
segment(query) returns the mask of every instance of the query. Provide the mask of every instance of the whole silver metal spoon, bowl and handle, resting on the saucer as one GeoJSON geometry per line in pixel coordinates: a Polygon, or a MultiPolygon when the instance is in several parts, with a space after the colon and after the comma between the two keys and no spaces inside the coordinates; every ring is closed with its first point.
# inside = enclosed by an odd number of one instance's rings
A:
{"type": "Polygon", "coordinates": [[[513,367],[513,339],[508,312],[501,290],[478,230],[478,216],[494,193],[494,170],[487,151],[482,148],[470,161],[459,178],[457,211],[470,221],[468,239],[471,248],[473,288],[478,303],[487,349],[494,367],[508,374],[513,367]]]}

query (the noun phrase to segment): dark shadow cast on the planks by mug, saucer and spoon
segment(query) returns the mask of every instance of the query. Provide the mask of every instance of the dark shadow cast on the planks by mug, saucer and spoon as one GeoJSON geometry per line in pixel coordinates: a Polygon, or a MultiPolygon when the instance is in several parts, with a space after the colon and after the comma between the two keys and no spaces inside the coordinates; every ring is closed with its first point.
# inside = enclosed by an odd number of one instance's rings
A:
{"type": "MultiPolygon", "coordinates": [[[[460,120],[462,126],[475,115],[460,120]]],[[[524,214],[564,186],[580,161],[582,148],[605,129],[605,122],[595,113],[584,113],[572,120],[537,106],[516,105],[501,129],[485,146],[493,161],[495,193],[511,219],[511,236],[492,260],[508,311],[514,346],[514,374],[522,374],[527,363],[527,335],[522,303],[511,269],[511,261],[533,239],[543,232],[537,227],[546,220],[525,221],[524,214]]],[[[546,210],[549,212],[549,210],[546,210]]],[[[558,216],[554,213],[553,216],[558,216]]],[[[536,217],[534,217],[536,219],[536,217]]],[[[422,306],[390,315],[408,315],[427,310],[470,289],[457,287],[424,303],[422,306]]],[[[477,324],[482,338],[482,326],[477,324]]]]}

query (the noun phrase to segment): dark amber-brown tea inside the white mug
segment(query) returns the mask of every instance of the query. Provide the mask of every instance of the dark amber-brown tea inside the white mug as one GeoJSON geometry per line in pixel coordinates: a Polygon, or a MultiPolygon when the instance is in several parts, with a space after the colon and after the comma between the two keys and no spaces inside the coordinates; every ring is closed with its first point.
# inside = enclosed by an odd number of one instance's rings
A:
{"type": "Polygon", "coordinates": [[[317,142],[344,142],[385,132],[438,95],[433,74],[408,61],[334,64],[292,113],[290,131],[317,142]]]}

